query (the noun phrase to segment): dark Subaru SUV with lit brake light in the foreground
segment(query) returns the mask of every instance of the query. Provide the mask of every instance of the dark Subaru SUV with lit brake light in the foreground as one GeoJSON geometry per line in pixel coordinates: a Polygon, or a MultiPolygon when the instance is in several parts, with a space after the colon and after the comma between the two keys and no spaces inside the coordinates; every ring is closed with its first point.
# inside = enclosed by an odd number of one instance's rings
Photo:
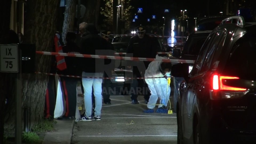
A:
{"type": "Polygon", "coordinates": [[[177,102],[178,143],[256,143],[256,23],[226,18],[212,31],[191,73],[183,77],[177,102]]]}

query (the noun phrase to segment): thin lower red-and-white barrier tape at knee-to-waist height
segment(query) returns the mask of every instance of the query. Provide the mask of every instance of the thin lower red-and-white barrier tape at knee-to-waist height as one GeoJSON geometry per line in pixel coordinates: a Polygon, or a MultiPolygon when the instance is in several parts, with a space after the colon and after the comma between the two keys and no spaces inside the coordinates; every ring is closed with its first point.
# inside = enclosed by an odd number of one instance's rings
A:
{"type": "MultiPolygon", "coordinates": [[[[63,74],[52,74],[52,73],[41,73],[41,72],[35,72],[35,74],[46,74],[46,75],[57,75],[61,77],[72,77],[72,78],[99,78],[99,79],[150,79],[150,78],[170,78],[170,77],[148,77],[148,78],[123,78],[123,77],[83,77],[83,76],[75,76],[75,75],[63,75],[63,74]]],[[[171,76],[173,77],[173,76],[171,76]]]]}

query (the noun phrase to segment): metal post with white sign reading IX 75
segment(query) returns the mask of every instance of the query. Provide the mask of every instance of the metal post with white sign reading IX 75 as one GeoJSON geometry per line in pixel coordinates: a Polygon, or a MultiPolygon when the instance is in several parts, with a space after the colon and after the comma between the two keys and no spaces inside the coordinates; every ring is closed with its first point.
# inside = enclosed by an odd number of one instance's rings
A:
{"type": "Polygon", "coordinates": [[[15,93],[15,143],[21,144],[21,50],[17,44],[0,45],[0,71],[17,73],[15,93]]]}

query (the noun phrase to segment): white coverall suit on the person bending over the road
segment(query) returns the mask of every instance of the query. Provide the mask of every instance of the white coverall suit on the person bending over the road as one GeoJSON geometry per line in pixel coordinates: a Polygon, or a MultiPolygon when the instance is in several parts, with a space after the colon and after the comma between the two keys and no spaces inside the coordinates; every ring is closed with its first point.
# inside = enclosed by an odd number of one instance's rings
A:
{"type": "MultiPolygon", "coordinates": [[[[156,59],[167,59],[167,57],[159,57],[156,55],[156,59]]],[[[149,64],[149,67],[147,68],[145,72],[145,77],[163,77],[163,75],[160,71],[161,61],[153,61],[149,64]]],[[[170,72],[169,72],[170,74],[170,72]]],[[[153,109],[155,107],[155,104],[157,103],[158,97],[160,98],[160,103],[167,106],[167,102],[169,101],[171,88],[167,84],[167,80],[165,77],[163,78],[147,78],[145,79],[149,89],[150,89],[150,98],[149,102],[147,104],[147,108],[153,109]]],[[[162,107],[163,105],[159,105],[159,107],[162,107]]]]}

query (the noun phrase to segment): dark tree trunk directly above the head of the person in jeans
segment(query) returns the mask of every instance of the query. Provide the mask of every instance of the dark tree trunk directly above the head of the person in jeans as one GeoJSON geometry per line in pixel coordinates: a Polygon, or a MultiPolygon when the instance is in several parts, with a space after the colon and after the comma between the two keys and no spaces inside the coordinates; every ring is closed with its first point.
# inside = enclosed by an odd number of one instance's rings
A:
{"type": "Polygon", "coordinates": [[[85,15],[83,16],[83,22],[94,23],[98,27],[100,0],[87,0],[85,3],[85,15]]]}

